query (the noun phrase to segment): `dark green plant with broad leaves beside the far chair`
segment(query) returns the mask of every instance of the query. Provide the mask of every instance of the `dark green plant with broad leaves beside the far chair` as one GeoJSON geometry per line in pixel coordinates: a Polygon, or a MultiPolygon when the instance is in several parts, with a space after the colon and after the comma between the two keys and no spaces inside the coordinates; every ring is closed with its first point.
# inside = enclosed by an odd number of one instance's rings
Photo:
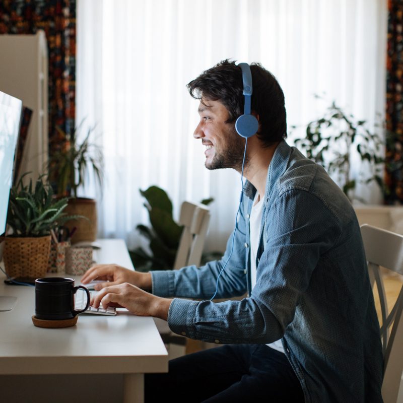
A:
{"type": "MultiPolygon", "coordinates": [[[[152,228],[143,224],[136,228],[149,240],[151,254],[138,247],[129,251],[131,260],[138,271],[170,270],[175,262],[183,227],[173,219],[172,201],[165,190],[150,186],[147,190],[140,189],[140,193],[147,200],[144,206],[149,213],[152,228]]],[[[212,198],[208,198],[201,200],[201,203],[208,205],[212,201],[212,198]]]]}

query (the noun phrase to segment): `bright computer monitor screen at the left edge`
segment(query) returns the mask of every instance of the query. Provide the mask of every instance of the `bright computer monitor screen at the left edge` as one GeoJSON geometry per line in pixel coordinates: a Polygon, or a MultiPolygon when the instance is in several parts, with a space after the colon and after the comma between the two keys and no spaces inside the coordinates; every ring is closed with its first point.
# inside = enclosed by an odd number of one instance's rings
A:
{"type": "Polygon", "coordinates": [[[22,102],[0,91],[0,235],[6,231],[22,102]]]}

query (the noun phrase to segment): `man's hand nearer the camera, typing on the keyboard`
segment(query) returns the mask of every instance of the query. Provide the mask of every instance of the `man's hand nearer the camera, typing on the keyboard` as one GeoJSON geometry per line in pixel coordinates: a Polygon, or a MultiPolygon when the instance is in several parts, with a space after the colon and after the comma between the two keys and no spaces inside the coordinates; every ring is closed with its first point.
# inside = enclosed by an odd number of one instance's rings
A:
{"type": "Polygon", "coordinates": [[[132,284],[124,283],[103,288],[91,298],[91,305],[98,308],[100,304],[126,308],[138,316],[154,316],[168,320],[171,299],[157,297],[132,284]]]}

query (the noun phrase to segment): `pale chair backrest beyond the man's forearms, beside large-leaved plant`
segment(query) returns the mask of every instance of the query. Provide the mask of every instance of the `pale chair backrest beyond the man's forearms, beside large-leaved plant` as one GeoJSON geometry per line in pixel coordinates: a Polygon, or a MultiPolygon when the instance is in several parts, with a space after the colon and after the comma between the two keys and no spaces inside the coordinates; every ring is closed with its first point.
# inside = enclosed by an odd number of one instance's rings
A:
{"type": "Polygon", "coordinates": [[[174,270],[200,264],[201,252],[210,222],[209,208],[202,204],[184,201],[180,209],[179,224],[183,225],[174,270]]]}

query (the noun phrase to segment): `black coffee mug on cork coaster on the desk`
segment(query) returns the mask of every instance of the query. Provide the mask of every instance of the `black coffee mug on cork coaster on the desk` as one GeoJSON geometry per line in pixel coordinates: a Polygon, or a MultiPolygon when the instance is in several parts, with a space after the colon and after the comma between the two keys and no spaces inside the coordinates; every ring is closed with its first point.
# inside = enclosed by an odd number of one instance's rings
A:
{"type": "Polygon", "coordinates": [[[74,318],[90,306],[91,296],[87,288],[74,286],[74,280],[63,277],[47,277],[35,280],[35,317],[45,320],[74,318]],[[83,289],[87,293],[87,305],[81,311],[74,309],[74,294],[83,289]]]}

